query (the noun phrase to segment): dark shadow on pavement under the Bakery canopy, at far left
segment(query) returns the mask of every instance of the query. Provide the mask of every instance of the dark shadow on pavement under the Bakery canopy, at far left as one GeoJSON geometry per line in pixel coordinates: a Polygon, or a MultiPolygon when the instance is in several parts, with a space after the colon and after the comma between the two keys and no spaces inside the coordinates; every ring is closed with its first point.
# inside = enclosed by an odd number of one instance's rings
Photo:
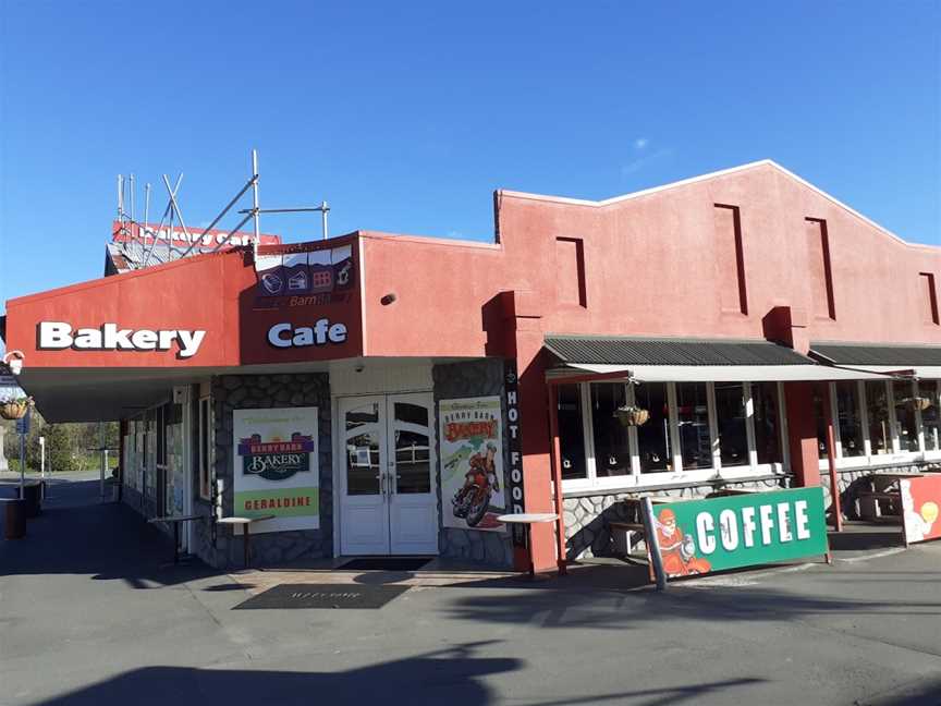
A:
{"type": "MultiPolygon", "coordinates": [[[[0,539],[0,575],[91,574],[135,588],[225,575],[198,560],[167,565],[172,539],[123,503],[100,502],[98,491],[97,480],[54,483],[26,537],[0,539]]],[[[15,494],[15,484],[0,486],[0,497],[15,494]]]]}

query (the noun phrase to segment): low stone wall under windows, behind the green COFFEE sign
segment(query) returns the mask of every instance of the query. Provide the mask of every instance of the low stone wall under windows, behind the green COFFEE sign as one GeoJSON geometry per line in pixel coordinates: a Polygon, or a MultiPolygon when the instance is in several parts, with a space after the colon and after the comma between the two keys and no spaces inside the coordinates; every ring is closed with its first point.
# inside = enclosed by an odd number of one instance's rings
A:
{"type": "Polygon", "coordinates": [[[627,497],[658,495],[675,498],[700,498],[720,487],[777,490],[787,487],[789,482],[787,476],[782,476],[767,480],[722,480],[683,488],[622,490],[566,497],[562,501],[565,519],[565,556],[570,561],[579,557],[612,556],[614,552],[608,523],[640,521],[639,518],[628,516],[626,506],[620,502],[627,497]]]}

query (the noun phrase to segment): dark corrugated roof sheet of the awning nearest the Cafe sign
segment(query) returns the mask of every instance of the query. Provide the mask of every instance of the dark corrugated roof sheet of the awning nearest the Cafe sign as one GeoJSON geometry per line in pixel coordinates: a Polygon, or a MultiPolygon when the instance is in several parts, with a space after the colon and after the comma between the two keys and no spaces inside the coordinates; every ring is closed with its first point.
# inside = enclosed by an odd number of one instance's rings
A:
{"type": "Polygon", "coordinates": [[[546,336],[565,363],[611,365],[812,365],[792,349],[765,340],[546,336]]]}

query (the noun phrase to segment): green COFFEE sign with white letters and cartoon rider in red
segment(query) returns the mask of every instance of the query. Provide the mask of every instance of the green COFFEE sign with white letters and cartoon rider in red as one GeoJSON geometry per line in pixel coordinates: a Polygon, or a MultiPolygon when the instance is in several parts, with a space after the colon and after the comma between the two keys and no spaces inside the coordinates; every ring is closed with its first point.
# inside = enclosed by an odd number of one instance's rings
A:
{"type": "Polygon", "coordinates": [[[829,551],[822,488],[655,504],[653,523],[671,579],[829,551]]]}

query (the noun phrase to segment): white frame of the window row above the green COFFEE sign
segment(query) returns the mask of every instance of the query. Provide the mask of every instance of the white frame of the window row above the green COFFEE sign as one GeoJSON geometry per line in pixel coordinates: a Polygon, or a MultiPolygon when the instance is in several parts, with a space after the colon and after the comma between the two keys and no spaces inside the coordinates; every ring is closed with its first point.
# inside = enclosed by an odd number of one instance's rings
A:
{"type": "Polygon", "coordinates": [[[751,393],[751,382],[743,381],[742,394],[745,402],[745,433],[748,443],[747,463],[723,466],[719,447],[719,419],[716,407],[716,384],[706,382],[706,399],[709,417],[709,435],[712,450],[712,465],[708,468],[683,470],[682,447],[680,443],[679,414],[676,409],[676,382],[664,382],[667,388],[667,405],[670,454],[672,467],[664,471],[640,472],[639,442],[637,428],[630,427],[627,442],[631,452],[631,473],[620,476],[599,476],[597,473],[597,457],[595,449],[594,406],[591,404],[591,385],[624,385],[627,404],[634,404],[635,384],[630,381],[576,382],[582,402],[582,434],[585,445],[585,477],[562,480],[564,492],[614,492],[643,488],[647,486],[671,485],[676,483],[700,483],[707,480],[746,479],[768,475],[785,475],[790,467],[790,450],[787,448],[787,417],[785,414],[784,389],[781,382],[775,382],[778,395],[778,433],[780,435],[781,461],[774,463],[758,463],[758,450],[755,437],[755,404],[751,393]]]}

